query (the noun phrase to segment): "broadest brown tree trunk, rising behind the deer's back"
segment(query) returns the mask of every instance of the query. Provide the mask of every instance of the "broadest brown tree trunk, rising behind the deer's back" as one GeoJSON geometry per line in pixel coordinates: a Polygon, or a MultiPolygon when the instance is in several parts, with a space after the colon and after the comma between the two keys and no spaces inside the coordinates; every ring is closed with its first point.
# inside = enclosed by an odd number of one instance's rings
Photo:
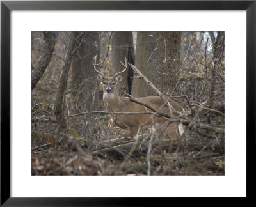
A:
{"type": "MultiPolygon", "coordinates": [[[[179,80],[181,32],[138,32],[135,66],[165,95],[179,80]]],[[[141,79],[134,78],[132,96],[156,95],[141,79]]]]}

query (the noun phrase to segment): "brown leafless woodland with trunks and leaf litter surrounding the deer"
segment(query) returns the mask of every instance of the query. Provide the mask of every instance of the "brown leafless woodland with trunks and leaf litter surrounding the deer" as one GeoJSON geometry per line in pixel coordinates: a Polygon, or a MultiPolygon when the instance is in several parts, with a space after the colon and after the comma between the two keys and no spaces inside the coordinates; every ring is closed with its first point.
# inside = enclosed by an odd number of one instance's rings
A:
{"type": "MultiPolygon", "coordinates": [[[[221,31],[32,32],[32,174],[224,174],[224,43],[221,31]],[[133,141],[109,131],[108,114],[95,112],[105,111],[96,54],[108,75],[123,70],[126,57],[191,112],[182,139],[149,150],[145,130],[143,148],[124,162],[133,141]]],[[[130,67],[118,90],[156,95],[130,67]]]]}

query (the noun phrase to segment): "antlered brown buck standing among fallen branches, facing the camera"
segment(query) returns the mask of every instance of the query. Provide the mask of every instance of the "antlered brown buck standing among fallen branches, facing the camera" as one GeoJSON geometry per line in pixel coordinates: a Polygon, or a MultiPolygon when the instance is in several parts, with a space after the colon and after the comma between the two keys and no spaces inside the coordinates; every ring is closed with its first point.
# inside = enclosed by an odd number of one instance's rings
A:
{"type": "MultiPolygon", "coordinates": [[[[125,58],[124,70],[116,73],[113,77],[106,77],[105,73],[101,73],[96,69],[97,56],[93,58],[93,70],[97,72],[97,80],[103,84],[104,93],[103,93],[103,102],[106,110],[109,112],[114,112],[113,116],[109,121],[109,129],[114,132],[120,133],[115,127],[118,126],[124,130],[128,130],[129,134],[125,136],[130,136],[132,139],[136,139],[138,132],[141,128],[152,128],[156,131],[157,137],[164,139],[164,137],[179,139],[180,135],[184,132],[184,125],[181,123],[167,123],[166,119],[159,116],[152,116],[152,114],[140,114],[140,112],[152,112],[147,107],[132,102],[127,97],[122,97],[118,95],[116,89],[116,84],[122,81],[122,73],[127,70],[127,59],[125,58]],[[138,112],[137,114],[115,114],[115,112],[138,112]]],[[[148,96],[145,98],[137,98],[138,101],[150,105],[154,109],[157,109],[159,112],[164,114],[169,114],[172,117],[177,117],[184,109],[174,100],[170,99],[169,107],[168,104],[164,105],[163,100],[159,96],[148,96]]]]}

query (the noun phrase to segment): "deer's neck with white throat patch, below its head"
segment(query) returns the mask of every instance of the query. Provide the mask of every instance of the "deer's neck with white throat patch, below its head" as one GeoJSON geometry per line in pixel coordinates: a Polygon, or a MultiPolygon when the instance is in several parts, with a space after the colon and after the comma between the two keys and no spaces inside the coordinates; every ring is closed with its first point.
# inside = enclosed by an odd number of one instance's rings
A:
{"type": "Polygon", "coordinates": [[[103,94],[103,102],[107,109],[107,111],[116,111],[117,105],[120,102],[120,97],[116,91],[116,88],[112,91],[112,93],[105,93],[103,94]]]}

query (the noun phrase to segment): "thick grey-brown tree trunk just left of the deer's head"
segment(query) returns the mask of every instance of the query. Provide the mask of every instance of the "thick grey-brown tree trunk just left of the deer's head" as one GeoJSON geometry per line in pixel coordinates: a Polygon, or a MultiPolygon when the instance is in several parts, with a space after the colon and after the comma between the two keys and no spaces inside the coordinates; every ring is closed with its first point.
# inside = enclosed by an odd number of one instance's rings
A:
{"type": "Polygon", "coordinates": [[[76,32],[77,41],[83,35],[83,40],[76,55],[72,58],[71,89],[74,104],[79,111],[97,109],[99,105],[99,82],[93,78],[93,57],[98,54],[99,35],[97,32],[76,32]],[[79,37],[80,36],[80,37],[79,37]]]}

